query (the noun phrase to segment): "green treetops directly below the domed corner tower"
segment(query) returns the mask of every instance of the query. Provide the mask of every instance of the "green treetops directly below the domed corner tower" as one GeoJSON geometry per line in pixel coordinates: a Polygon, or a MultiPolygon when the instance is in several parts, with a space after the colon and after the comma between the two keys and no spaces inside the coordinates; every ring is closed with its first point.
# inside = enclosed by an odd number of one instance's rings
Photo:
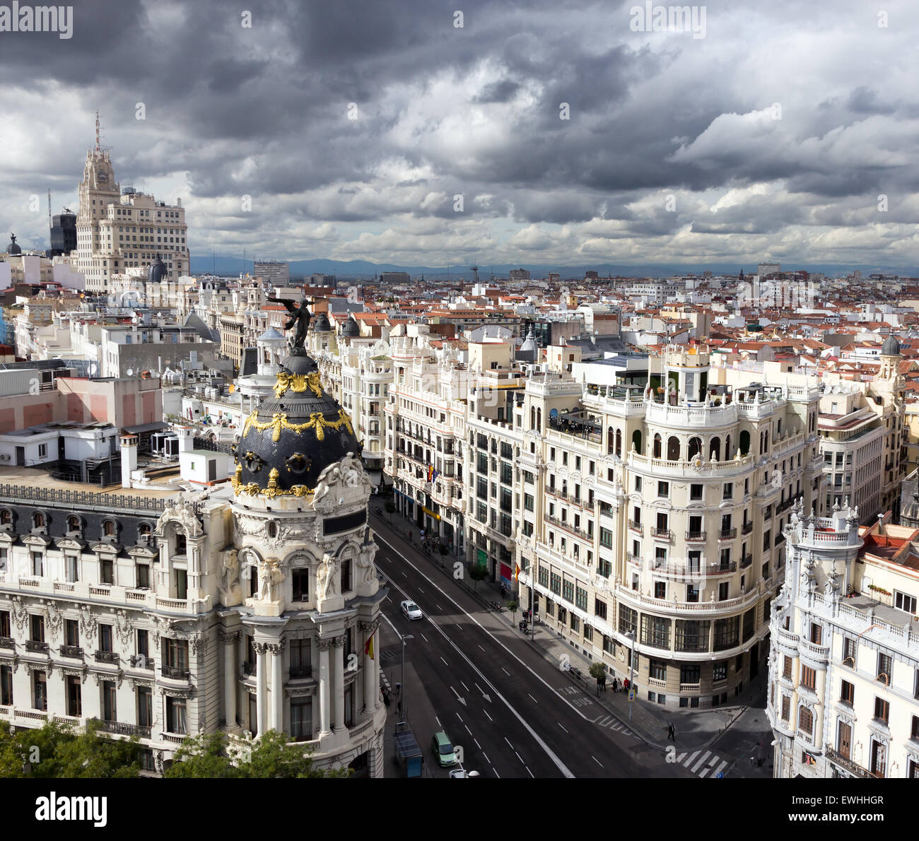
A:
{"type": "Polygon", "coordinates": [[[189,736],[176,751],[166,778],[346,778],[349,768],[313,767],[303,746],[287,733],[269,730],[252,743],[231,744],[225,733],[189,736]]]}

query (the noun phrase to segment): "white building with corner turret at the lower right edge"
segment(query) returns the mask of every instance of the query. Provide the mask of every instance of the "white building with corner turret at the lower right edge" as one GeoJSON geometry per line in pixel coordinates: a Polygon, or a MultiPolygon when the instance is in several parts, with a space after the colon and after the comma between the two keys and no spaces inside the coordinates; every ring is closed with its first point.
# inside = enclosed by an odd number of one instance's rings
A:
{"type": "Polygon", "coordinates": [[[777,778],[919,778],[919,529],[800,508],[772,608],[777,778]]]}

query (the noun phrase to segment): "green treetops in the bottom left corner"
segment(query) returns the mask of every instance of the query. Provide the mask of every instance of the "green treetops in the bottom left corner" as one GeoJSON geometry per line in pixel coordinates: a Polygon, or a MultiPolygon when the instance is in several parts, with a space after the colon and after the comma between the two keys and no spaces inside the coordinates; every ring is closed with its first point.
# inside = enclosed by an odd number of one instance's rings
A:
{"type": "Polygon", "coordinates": [[[78,729],[53,720],[36,730],[0,728],[3,778],[131,778],[140,770],[136,736],[107,739],[95,724],[78,729]]]}

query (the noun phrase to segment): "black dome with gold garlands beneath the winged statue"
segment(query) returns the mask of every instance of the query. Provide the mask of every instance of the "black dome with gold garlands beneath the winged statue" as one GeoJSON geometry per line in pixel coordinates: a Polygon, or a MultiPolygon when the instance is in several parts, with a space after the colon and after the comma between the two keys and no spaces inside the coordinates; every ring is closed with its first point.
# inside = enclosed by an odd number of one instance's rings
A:
{"type": "Polygon", "coordinates": [[[315,490],[319,474],[360,445],[351,419],[319,381],[312,357],[295,353],[281,363],[275,396],[246,418],[233,445],[237,494],[295,494],[315,490]]]}

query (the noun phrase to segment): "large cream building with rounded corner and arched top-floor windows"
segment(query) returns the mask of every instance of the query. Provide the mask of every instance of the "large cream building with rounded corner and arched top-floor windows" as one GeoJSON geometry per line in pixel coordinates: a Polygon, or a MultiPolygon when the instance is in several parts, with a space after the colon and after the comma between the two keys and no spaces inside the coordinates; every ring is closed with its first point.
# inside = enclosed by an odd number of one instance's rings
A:
{"type": "Polygon", "coordinates": [[[528,381],[520,601],[642,699],[717,706],[763,667],[790,506],[822,503],[819,391],[712,390],[697,348],[655,361],[643,391],[528,381]]]}

